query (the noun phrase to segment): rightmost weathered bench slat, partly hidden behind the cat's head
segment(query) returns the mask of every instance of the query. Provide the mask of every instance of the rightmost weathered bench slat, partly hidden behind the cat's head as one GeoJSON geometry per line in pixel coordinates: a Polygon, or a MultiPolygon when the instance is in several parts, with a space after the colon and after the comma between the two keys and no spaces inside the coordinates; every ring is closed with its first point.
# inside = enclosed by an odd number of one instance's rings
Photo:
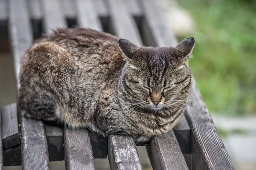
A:
{"type": "MultiPolygon", "coordinates": [[[[143,28],[151,35],[147,42],[154,42],[157,46],[177,45],[177,40],[166,24],[164,14],[161,13],[156,1],[141,0],[141,3],[145,12],[143,28]]],[[[230,156],[201,99],[194,80],[189,100],[197,101],[189,102],[189,107],[185,112],[192,133],[193,169],[233,169],[230,156]]]]}

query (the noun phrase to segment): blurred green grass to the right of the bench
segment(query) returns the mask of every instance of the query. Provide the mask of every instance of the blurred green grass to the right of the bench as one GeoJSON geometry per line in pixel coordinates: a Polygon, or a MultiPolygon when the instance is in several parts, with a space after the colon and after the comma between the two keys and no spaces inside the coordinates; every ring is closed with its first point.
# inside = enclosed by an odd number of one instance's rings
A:
{"type": "Polygon", "coordinates": [[[184,37],[195,38],[189,65],[209,110],[256,113],[256,1],[177,2],[195,20],[184,37]]]}

